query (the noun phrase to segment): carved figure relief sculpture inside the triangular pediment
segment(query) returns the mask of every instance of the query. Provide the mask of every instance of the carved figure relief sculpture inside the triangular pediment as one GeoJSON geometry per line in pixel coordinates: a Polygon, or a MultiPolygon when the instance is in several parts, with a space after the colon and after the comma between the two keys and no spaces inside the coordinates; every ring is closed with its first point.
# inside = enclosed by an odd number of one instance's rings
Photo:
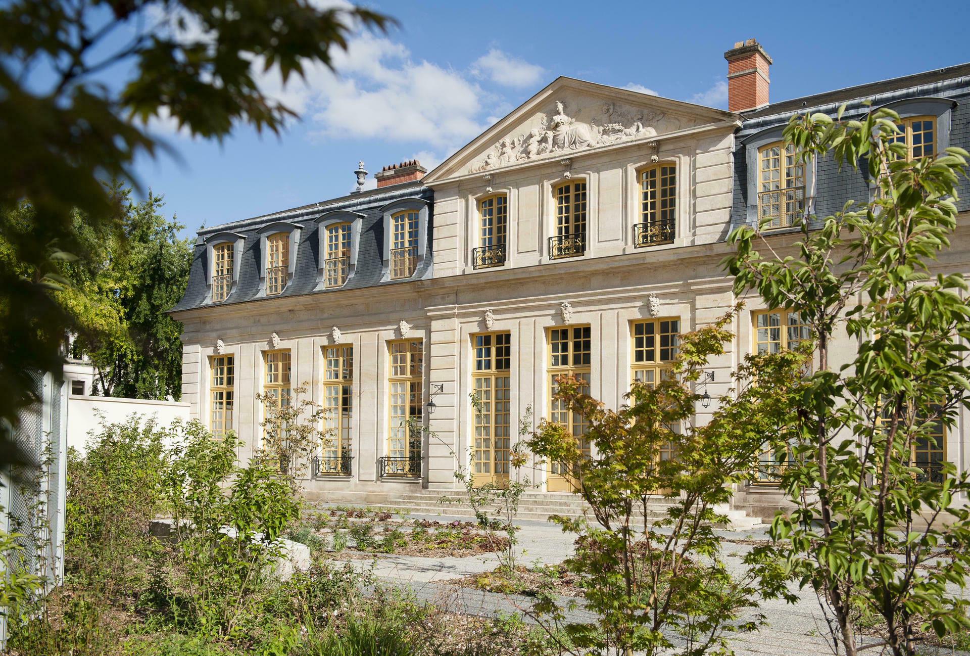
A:
{"type": "MultiPolygon", "coordinates": [[[[533,159],[546,154],[570,152],[645,137],[656,137],[652,125],[663,114],[644,113],[642,110],[623,109],[616,103],[600,105],[601,116],[583,121],[568,115],[566,102],[556,101],[555,114],[540,115],[539,125],[518,137],[509,136],[499,140],[481,159],[473,162],[470,173],[488,171],[496,167],[533,159]]],[[[679,121],[670,119],[679,127],[679,121]]],[[[670,122],[668,121],[668,122],[670,122]]],[[[676,129],[676,128],[674,128],[676,129]]]]}

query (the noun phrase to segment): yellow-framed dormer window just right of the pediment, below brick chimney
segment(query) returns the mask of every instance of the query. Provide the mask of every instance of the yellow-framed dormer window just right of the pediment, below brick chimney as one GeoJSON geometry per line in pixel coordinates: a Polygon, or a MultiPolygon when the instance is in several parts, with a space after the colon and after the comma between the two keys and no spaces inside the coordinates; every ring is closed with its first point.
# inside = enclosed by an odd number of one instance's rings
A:
{"type": "Polygon", "coordinates": [[[794,147],[770,144],[759,150],[759,223],[787,228],[805,214],[805,164],[796,161],[794,147]]]}

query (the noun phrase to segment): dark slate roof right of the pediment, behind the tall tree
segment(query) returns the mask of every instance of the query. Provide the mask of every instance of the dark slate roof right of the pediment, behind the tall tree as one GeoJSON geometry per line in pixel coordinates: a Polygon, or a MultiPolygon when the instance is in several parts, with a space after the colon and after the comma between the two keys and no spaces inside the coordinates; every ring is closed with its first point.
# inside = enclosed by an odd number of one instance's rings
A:
{"type": "MultiPolygon", "coordinates": [[[[970,63],[792,98],[742,113],[744,124],[737,131],[734,142],[731,228],[745,223],[757,227],[757,220],[751,220],[749,208],[757,206],[758,199],[749,199],[752,185],[748,177],[757,177],[758,171],[748,171],[752,159],[747,149],[758,148],[760,134],[769,135],[771,141],[781,141],[781,130],[792,115],[824,113],[834,117],[843,103],[846,104],[843,117],[853,118],[889,104],[902,113],[907,109],[907,101],[917,99],[932,99],[939,103],[939,107],[948,109],[949,145],[970,150],[970,63]],[[866,105],[866,101],[871,101],[871,105],[866,105]]],[[[840,212],[847,201],[864,203],[868,200],[869,182],[861,170],[844,166],[839,171],[831,156],[819,159],[815,166],[814,213],[820,219],[840,212]]],[[[958,194],[957,209],[970,211],[970,180],[960,179],[958,194]]]]}

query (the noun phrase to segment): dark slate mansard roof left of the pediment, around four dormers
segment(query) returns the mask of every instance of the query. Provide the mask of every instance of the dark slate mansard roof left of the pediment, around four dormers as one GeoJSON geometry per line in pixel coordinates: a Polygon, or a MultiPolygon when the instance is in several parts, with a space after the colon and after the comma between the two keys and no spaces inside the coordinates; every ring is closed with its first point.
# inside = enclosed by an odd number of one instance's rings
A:
{"type": "Polygon", "coordinates": [[[255,216],[242,221],[224,223],[200,230],[192,256],[192,268],[189,272],[188,285],[185,294],[178,304],[169,312],[180,312],[196,308],[210,308],[233,306],[257,299],[263,280],[260,279],[261,228],[280,221],[288,221],[302,225],[300,244],[297,248],[296,264],[293,279],[279,294],[260,296],[259,300],[271,300],[289,296],[312,294],[320,296],[321,300],[327,294],[340,292],[345,289],[361,289],[382,284],[399,284],[408,280],[425,279],[431,277],[433,240],[430,238],[434,217],[434,197],[432,190],[420,180],[393,184],[378,189],[372,189],[359,194],[350,194],[300,208],[278,213],[255,216]],[[384,250],[384,213],[382,208],[396,201],[417,198],[428,203],[427,233],[420,235],[427,245],[426,255],[419,260],[417,271],[408,279],[382,280],[387,253],[384,250]],[[320,229],[316,219],[326,213],[346,211],[363,214],[360,229],[360,245],[357,253],[357,266],[353,276],[347,279],[341,287],[316,289],[318,282],[320,229]],[[237,233],[245,237],[242,248],[242,258],[239,266],[239,281],[236,289],[225,301],[218,303],[204,303],[208,292],[207,268],[209,262],[209,248],[206,240],[219,233],[237,233]]]}

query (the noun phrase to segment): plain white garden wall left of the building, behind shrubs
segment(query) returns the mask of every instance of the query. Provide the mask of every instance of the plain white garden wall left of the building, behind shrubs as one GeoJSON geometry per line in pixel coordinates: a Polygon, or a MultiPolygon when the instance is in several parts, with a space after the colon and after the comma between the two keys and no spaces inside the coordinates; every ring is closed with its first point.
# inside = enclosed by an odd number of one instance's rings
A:
{"type": "Polygon", "coordinates": [[[103,414],[106,423],[126,421],[132,414],[142,415],[141,421],[155,417],[159,426],[169,426],[176,419],[188,421],[190,404],[178,401],[147,401],[145,399],[113,399],[104,396],[68,396],[67,445],[84,452],[88,433],[101,429],[103,414]]]}

